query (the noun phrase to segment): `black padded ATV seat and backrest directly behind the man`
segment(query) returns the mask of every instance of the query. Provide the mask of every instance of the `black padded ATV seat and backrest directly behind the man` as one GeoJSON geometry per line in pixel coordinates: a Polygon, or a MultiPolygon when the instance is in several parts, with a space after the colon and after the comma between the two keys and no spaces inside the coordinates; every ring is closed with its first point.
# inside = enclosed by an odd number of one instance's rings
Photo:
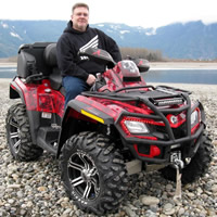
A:
{"type": "Polygon", "coordinates": [[[48,44],[44,49],[43,54],[44,54],[46,63],[51,68],[51,73],[49,75],[51,87],[54,90],[60,90],[62,87],[62,76],[61,76],[61,72],[58,67],[56,43],[48,44]]]}

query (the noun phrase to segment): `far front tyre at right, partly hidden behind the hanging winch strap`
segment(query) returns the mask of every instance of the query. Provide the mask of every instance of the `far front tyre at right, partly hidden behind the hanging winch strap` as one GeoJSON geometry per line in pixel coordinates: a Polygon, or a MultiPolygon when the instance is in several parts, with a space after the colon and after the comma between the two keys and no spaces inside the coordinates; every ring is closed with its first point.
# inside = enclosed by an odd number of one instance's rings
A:
{"type": "MultiPolygon", "coordinates": [[[[190,164],[182,169],[181,182],[183,184],[192,183],[207,173],[212,161],[212,140],[207,133],[204,133],[196,154],[192,157],[190,164]]],[[[176,169],[171,166],[161,169],[161,173],[165,179],[176,181],[176,169]]]]}

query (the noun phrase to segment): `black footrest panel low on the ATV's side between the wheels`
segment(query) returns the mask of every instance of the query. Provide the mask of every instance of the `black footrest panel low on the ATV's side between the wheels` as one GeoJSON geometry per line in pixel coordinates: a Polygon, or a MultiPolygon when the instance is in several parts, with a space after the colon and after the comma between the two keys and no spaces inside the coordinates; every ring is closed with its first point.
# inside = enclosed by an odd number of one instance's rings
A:
{"type": "Polygon", "coordinates": [[[37,144],[42,149],[56,154],[56,144],[60,129],[53,127],[40,127],[37,136],[37,144]]]}

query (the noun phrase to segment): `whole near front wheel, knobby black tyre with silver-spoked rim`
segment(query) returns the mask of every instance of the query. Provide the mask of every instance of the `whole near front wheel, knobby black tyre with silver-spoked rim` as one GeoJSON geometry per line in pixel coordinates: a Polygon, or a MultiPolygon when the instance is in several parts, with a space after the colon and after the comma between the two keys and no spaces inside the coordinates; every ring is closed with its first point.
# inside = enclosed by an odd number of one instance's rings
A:
{"type": "Polygon", "coordinates": [[[128,190],[123,157],[103,135],[81,132],[69,138],[60,167],[66,193],[87,213],[115,212],[128,190]]]}

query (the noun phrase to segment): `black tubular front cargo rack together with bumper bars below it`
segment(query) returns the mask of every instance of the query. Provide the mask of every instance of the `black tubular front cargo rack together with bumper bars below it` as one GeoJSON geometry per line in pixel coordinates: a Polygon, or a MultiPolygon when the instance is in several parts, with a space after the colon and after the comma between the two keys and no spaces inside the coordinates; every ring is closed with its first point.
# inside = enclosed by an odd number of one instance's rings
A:
{"type": "MultiPolygon", "coordinates": [[[[140,113],[130,113],[124,111],[119,114],[117,119],[115,120],[115,126],[122,133],[123,142],[128,145],[132,152],[136,152],[132,144],[140,143],[140,144],[148,144],[148,145],[157,145],[161,149],[164,149],[162,153],[164,156],[159,158],[150,158],[139,156],[141,161],[150,161],[154,163],[165,163],[168,161],[169,151],[173,149],[174,145],[181,145],[186,142],[189,144],[186,146],[188,149],[187,156],[193,156],[196,152],[200,143],[195,143],[195,139],[202,136],[203,130],[205,129],[205,114],[202,104],[196,101],[195,104],[191,105],[191,100],[189,98],[191,92],[184,91],[181,89],[175,89],[167,86],[158,86],[154,88],[153,86],[140,86],[138,87],[128,87],[123,88],[114,92],[82,92],[82,95],[91,97],[91,98],[99,98],[99,99],[106,99],[111,101],[120,101],[120,102],[135,102],[136,106],[143,103],[146,105],[153,113],[152,114],[140,114],[140,113]],[[141,88],[146,88],[148,91],[141,90],[141,88]],[[137,91],[133,91],[133,90],[137,91]],[[139,90],[138,90],[139,89],[139,90]],[[127,92],[120,92],[124,90],[128,90],[127,92]],[[132,91],[129,91],[132,90],[132,91]],[[150,91],[151,90],[151,91],[150,91]],[[169,105],[173,104],[181,104],[181,106],[170,107],[169,105]],[[163,104],[161,104],[163,103],[163,104]],[[168,105],[168,106],[165,106],[168,105]],[[201,111],[201,124],[199,128],[195,130],[194,133],[191,131],[191,114],[196,110],[200,108],[201,111]],[[173,129],[169,120],[167,119],[167,115],[178,115],[180,113],[186,113],[186,123],[184,123],[184,135],[181,137],[175,136],[175,130],[173,129]],[[166,138],[158,138],[157,140],[150,140],[150,139],[142,139],[138,137],[126,137],[125,132],[120,127],[120,122],[124,117],[139,117],[144,119],[153,119],[154,122],[161,122],[164,124],[164,135],[166,138]]],[[[157,130],[157,129],[156,129],[157,130]]],[[[199,140],[197,140],[199,141],[199,140]]],[[[136,154],[136,153],[135,153],[136,154]]]]}

